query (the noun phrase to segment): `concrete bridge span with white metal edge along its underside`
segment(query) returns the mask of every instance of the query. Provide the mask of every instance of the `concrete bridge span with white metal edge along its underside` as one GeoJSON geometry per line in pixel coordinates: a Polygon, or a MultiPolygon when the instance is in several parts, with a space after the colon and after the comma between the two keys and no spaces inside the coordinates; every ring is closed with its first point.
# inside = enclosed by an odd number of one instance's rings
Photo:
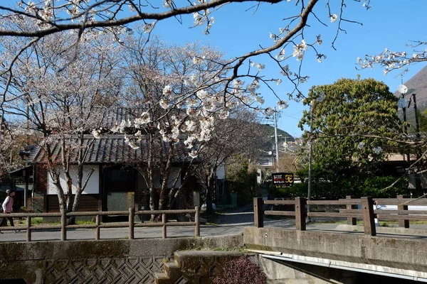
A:
{"type": "MultiPolygon", "coordinates": [[[[419,231],[418,231],[419,232],[419,231]]],[[[427,231],[426,231],[427,233],[427,231]]],[[[407,234],[411,234],[410,231],[407,234]]],[[[277,228],[246,227],[243,244],[262,256],[265,263],[334,268],[343,275],[384,275],[400,280],[427,282],[427,234],[402,236],[378,234],[366,236],[348,231],[297,231],[277,228]],[[266,260],[269,260],[266,262],[266,260]]],[[[264,264],[270,278],[287,278],[289,269],[264,264]]],[[[330,275],[317,275],[325,278],[330,275]]],[[[354,283],[342,279],[338,283],[354,283]]],[[[359,282],[356,282],[359,283],[359,282]]],[[[399,282],[401,283],[401,282],[399,282]]]]}

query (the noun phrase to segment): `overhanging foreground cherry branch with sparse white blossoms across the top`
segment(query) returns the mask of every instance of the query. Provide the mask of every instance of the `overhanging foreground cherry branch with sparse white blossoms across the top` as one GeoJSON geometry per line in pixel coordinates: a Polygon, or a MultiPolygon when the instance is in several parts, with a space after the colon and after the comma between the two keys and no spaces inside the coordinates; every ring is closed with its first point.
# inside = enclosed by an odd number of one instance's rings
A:
{"type": "MultiPolygon", "coordinates": [[[[165,0],[162,6],[151,1],[136,0],[46,0],[46,1],[18,1],[16,5],[0,5],[0,21],[31,22],[33,25],[20,28],[19,26],[6,26],[0,29],[0,35],[21,38],[21,48],[11,55],[8,67],[4,72],[11,76],[12,65],[21,56],[23,50],[29,48],[41,38],[53,33],[75,31],[78,38],[75,45],[80,42],[85,30],[102,29],[117,36],[132,33],[135,29],[144,31],[147,35],[154,33],[157,23],[168,19],[176,19],[181,24],[186,17],[193,18],[192,27],[204,27],[204,33],[214,27],[214,16],[221,13],[223,7],[231,4],[253,4],[248,9],[256,13],[258,8],[265,5],[274,5],[285,12],[280,15],[283,24],[275,31],[265,31],[266,39],[270,43],[260,45],[249,52],[244,52],[236,58],[221,62],[222,68],[217,74],[211,74],[204,82],[199,84],[195,91],[201,91],[214,84],[223,86],[223,97],[236,97],[241,99],[241,94],[248,92],[252,99],[262,102],[263,98],[257,94],[260,84],[265,84],[268,89],[278,97],[279,106],[286,105],[286,99],[301,99],[300,84],[307,82],[308,75],[301,74],[302,61],[310,53],[312,60],[325,60],[326,55],[320,51],[322,45],[321,35],[306,31],[311,24],[330,24],[336,33],[332,41],[332,48],[341,32],[345,32],[345,25],[357,23],[346,18],[347,9],[369,9],[369,0],[214,0],[195,2],[176,2],[165,0]],[[354,6],[353,6],[354,5],[354,6]],[[135,26],[138,23],[139,26],[135,26]],[[265,56],[266,55],[266,56],[265,56]],[[261,58],[270,60],[270,67],[278,70],[276,77],[265,77],[263,69],[265,62],[261,58]],[[275,91],[275,85],[283,80],[289,80],[293,89],[288,92],[288,97],[280,97],[275,91]]],[[[236,5],[236,8],[238,6],[236,5]]],[[[233,19],[231,19],[233,21],[233,19]]],[[[254,23],[258,25],[258,23],[254,23]]],[[[171,25],[171,28],[172,25],[171,25]]],[[[147,40],[150,36],[147,36],[147,40]]],[[[236,37],[237,39],[238,37],[236,37]]],[[[234,43],[231,43],[234,44],[234,43]]],[[[236,41],[238,44],[238,41],[236,41]]],[[[77,54],[75,54],[77,56],[77,54]]],[[[202,58],[195,58],[201,60],[202,58]]],[[[167,84],[166,84],[167,85],[167,84]]],[[[7,87],[7,86],[6,86],[7,87]]],[[[227,99],[226,99],[227,101],[227,99]]],[[[243,104],[250,104],[248,101],[243,104]]],[[[268,110],[270,111],[270,110],[268,110]]]]}

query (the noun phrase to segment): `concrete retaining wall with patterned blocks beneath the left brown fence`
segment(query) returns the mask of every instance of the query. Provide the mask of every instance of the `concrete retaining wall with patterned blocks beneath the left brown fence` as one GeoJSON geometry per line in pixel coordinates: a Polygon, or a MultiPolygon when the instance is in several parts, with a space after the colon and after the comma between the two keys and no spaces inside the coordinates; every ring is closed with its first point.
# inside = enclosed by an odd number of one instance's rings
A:
{"type": "MultiPolygon", "coordinates": [[[[243,237],[0,244],[0,280],[26,283],[154,283],[174,251],[235,248],[243,237]]],[[[0,281],[1,282],[1,281],[0,281]]]]}

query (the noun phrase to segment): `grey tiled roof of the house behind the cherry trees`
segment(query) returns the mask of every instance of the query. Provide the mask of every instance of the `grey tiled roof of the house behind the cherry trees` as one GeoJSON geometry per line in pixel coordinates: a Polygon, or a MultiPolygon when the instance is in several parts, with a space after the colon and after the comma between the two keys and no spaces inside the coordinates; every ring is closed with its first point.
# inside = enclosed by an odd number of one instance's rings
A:
{"type": "MultiPolygon", "coordinates": [[[[77,138],[75,139],[75,146],[71,153],[71,163],[77,161],[78,147],[77,138]]],[[[139,148],[137,150],[132,149],[125,142],[125,138],[122,135],[105,135],[99,139],[93,138],[91,135],[86,135],[83,141],[83,145],[89,146],[90,150],[85,158],[85,163],[96,164],[96,163],[129,163],[135,161],[145,162],[147,161],[147,139],[138,141],[139,148]],[[92,145],[90,145],[92,143],[92,145]]],[[[53,142],[51,144],[53,150],[53,157],[55,160],[60,160],[60,141],[53,142]]],[[[162,152],[156,149],[154,156],[157,160],[161,157],[165,157],[169,150],[168,143],[163,143],[162,152]]],[[[23,155],[28,163],[46,163],[46,152],[43,151],[39,146],[30,146],[23,151],[23,155]]],[[[162,159],[164,160],[164,159],[162,159]]],[[[175,153],[173,162],[179,163],[184,160],[189,160],[188,150],[184,146],[183,141],[175,144],[175,153]]]]}

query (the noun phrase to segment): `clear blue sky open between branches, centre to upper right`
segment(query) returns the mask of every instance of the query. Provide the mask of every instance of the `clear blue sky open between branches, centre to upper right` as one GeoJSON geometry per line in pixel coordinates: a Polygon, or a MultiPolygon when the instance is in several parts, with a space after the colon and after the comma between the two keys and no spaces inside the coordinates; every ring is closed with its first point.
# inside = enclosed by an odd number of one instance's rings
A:
{"type": "MultiPolygon", "coordinates": [[[[279,27],[284,26],[282,18],[294,14],[292,13],[295,10],[292,2],[295,3],[295,0],[278,5],[263,4],[255,13],[253,13],[253,9],[245,11],[253,4],[225,6],[213,13],[216,22],[211,28],[210,35],[204,35],[204,26],[189,28],[193,25],[191,16],[184,17],[182,24],[175,19],[158,23],[154,33],[161,35],[162,40],[169,43],[201,40],[203,43],[218,47],[226,53],[226,57],[231,58],[258,48],[260,44],[271,43],[269,33],[277,32],[279,27]]],[[[330,23],[327,9],[322,2],[325,1],[320,1],[315,12],[322,21],[327,23],[328,27],[313,21],[311,16],[309,19],[311,26],[307,28],[305,36],[307,42],[313,42],[315,35],[322,35],[323,44],[319,51],[326,54],[327,59],[319,63],[314,53],[309,52],[305,55],[302,74],[309,75],[310,80],[300,89],[307,93],[312,85],[331,84],[341,77],[356,78],[360,74],[362,78],[373,77],[376,80],[384,81],[389,85],[391,92],[394,92],[401,82],[399,71],[384,76],[379,67],[374,70],[356,70],[357,57],[363,58],[365,54],[381,53],[384,48],[396,51],[408,50],[409,52],[411,49],[406,48],[405,45],[410,40],[426,40],[423,38],[423,34],[426,26],[427,1],[371,0],[371,9],[368,11],[362,7],[363,1],[362,3],[347,1],[347,9],[344,9],[345,17],[349,20],[360,21],[363,26],[344,23],[343,28],[347,30],[347,34],[339,34],[335,45],[337,50],[331,48],[337,22],[330,23]]],[[[332,13],[338,13],[338,9],[339,6],[332,6],[332,13]]],[[[287,50],[287,53],[292,53],[292,50],[287,50]]],[[[260,58],[259,62],[263,62],[263,58],[260,58]]],[[[295,58],[290,58],[290,64],[295,64],[295,62],[295,58]]],[[[272,62],[265,61],[265,65],[263,73],[266,77],[280,77],[277,70],[272,68],[272,62]]],[[[404,76],[404,81],[409,80],[423,66],[423,64],[412,65],[404,76]]],[[[284,80],[277,90],[283,99],[287,99],[285,94],[291,89],[284,80]]],[[[261,92],[265,99],[264,106],[274,106],[277,99],[267,89],[261,89],[261,92]]],[[[281,113],[278,121],[279,128],[288,131],[292,136],[300,136],[302,131],[297,128],[297,123],[304,109],[302,103],[290,102],[290,107],[281,113]]]]}

